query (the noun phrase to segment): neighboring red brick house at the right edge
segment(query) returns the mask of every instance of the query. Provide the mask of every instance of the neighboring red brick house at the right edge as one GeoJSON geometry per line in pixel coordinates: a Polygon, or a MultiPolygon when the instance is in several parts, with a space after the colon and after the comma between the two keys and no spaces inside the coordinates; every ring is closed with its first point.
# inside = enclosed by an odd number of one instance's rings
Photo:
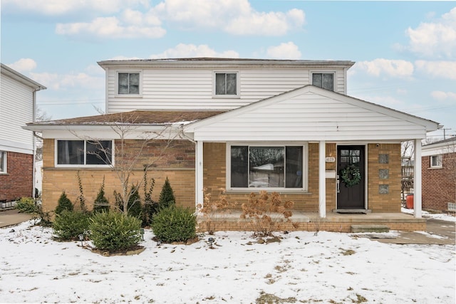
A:
{"type": "Polygon", "coordinates": [[[423,146],[423,209],[456,211],[456,137],[423,146]]]}

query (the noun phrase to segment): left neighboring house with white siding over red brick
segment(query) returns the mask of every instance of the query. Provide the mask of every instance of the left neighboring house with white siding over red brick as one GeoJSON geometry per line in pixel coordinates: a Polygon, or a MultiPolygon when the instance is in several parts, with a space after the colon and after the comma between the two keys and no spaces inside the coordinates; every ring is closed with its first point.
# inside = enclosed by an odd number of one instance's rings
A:
{"type": "Polygon", "coordinates": [[[0,207],[33,196],[35,138],[24,130],[34,121],[36,92],[46,87],[1,64],[0,78],[0,207]]]}

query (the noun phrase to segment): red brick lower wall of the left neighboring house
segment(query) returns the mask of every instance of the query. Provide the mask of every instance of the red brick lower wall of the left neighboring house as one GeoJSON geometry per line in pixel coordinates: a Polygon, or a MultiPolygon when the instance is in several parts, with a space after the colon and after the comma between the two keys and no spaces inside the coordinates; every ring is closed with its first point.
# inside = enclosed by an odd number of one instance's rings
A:
{"type": "Polygon", "coordinates": [[[6,152],[7,174],[0,174],[0,201],[33,196],[33,155],[6,152]]]}

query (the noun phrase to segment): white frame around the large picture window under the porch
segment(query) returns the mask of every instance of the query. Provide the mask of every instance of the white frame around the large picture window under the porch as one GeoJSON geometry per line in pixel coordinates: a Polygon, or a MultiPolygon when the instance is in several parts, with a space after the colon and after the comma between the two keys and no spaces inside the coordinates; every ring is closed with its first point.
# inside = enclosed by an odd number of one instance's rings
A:
{"type": "Polygon", "coordinates": [[[266,190],[268,192],[279,193],[303,193],[309,191],[309,145],[308,142],[227,142],[226,148],[226,189],[227,192],[257,192],[266,190]],[[231,187],[231,147],[248,146],[248,147],[302,147],[302,188],[286,187],[231,187]]]}

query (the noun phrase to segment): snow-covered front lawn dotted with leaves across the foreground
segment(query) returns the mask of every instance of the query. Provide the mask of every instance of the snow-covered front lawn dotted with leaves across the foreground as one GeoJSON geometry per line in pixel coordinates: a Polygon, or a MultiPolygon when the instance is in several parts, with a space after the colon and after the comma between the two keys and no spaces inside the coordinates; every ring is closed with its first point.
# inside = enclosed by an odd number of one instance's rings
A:
{"type": "Polygon", "coordinates": [[[218,232],[192,245],[152,241],[100,256],[53,241],[32,221],[0,229],[1,303],[455,303],[455,246],[395,245],[296,231],[280,243],[218,232]],[[14,232],[11,231],[14,229],[14,232]]]}

